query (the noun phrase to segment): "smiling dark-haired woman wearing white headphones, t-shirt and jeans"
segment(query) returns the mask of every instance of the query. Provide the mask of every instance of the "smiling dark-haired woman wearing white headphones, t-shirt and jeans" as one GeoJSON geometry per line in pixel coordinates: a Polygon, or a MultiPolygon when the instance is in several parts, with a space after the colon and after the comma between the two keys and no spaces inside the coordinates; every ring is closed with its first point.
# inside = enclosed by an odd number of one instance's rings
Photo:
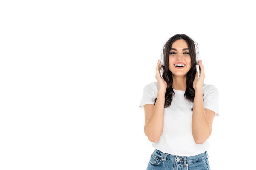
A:
{"type": "Polygon", "coordinates": [[[139,106],[155,148],[147,170],[210,170],[207,139],[219,116],[218,89],[204,84],[202,60],[198,78],[195,44],[187,35],[172,36],[163,54],[165,66],[158,60],[157,82],[145,85],[139,106]]]}

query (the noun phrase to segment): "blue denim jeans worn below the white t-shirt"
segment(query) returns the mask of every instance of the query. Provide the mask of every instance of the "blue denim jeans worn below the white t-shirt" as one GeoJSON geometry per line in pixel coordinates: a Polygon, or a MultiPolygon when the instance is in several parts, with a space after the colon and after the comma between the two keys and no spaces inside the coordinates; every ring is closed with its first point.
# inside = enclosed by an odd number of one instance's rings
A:
{"type": "Polygon", "coordinates": [[[194,156],[178,156],[155,149],[147,170],[210,170],[207,151],[194,156]]]}

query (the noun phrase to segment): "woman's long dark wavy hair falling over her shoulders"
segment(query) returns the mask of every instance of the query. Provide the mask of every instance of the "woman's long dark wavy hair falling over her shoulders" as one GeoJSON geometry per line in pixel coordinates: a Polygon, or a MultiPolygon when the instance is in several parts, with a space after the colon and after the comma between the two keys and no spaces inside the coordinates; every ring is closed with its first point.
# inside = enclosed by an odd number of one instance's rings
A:
{"type": "MultiPolygon", "coordinates": [[[[167,82],[164,108],[171,105],[172,96],[173,95],[175,96],[175,92],[173,91],[173,88],[172,88],[172,83],[173,83],[172,72],[169,70],[169,54],[170,54],[170,49],[172,47],[173,42],[179,39],[184,39],[187,42],[189,46],[189,54],[191,58],[191,69],[186,74],[186,91],[185,91],[184,97],[191,102],[194,102],[194,98],[195,98],[195,89],[193,88],[193,82],[196,74],[195,44],[193,40],[191,40],[191,38],[189,38],[187,35],[176,34],[166,42],[166,44],[164,45],[164,51],[163,51],[164,65],[165,65],[163,66],[163,70],[164,70],[163,79],[167,82]]],[[[204,94],[202,97],[204,97],[204,94]]],[[[157,101],[157,98],[154,99],[154,104],[156,103],[156,101],[157,101]]],[[[191,109],[191,111],[193,111],[193,109],[194,107],[191,109]]]]}

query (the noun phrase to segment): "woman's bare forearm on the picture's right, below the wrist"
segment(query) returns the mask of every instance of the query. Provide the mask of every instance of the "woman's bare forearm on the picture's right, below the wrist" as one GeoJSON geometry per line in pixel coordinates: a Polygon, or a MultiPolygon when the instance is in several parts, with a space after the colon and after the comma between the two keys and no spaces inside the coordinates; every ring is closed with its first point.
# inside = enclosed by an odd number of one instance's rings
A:
{"type": "Polygon", "coordinates": [[[196,143],[204,143],[211,135],[211,126],[204,111],[203,90],[195,89],[192,134],[196,143]]]}

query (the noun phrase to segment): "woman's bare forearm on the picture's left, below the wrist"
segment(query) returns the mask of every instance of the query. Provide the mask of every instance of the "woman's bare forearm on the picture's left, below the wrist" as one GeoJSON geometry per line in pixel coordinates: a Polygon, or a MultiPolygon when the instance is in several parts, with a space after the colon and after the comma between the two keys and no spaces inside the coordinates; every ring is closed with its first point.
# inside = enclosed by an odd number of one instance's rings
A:
{"type": "Polygon", "coordinates": [[[145,125],[145,134],[151,142],[157,142],[163,131],[165,91],[158,91],[152,116],[145,125]]]}

